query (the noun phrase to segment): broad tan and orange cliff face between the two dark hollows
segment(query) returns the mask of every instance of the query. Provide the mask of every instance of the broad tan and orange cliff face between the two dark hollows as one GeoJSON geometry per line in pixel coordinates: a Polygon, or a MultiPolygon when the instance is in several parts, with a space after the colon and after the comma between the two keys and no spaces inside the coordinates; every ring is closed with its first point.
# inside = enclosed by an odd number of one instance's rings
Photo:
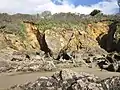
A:
{"type": "Polygon", "coordinates": [[[46,41],[54,53],[62,50],[77,51],[81,48],[99,47],[96,38],[108,32],[107,23],[94,23],[86,26],[86,30],[55,28],[46,30],[46,41]]]}

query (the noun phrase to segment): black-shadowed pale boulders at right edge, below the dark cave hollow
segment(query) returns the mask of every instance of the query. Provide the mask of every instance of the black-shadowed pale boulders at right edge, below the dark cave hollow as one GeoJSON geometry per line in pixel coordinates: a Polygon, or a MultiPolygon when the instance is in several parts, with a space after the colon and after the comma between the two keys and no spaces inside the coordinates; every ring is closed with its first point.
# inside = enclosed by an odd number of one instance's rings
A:
{"type": "Polygon", "coordinates": [[[106,57],[94,59],[101,69],[112,72],[120,72],[120,55],[118,53],[110,53],[106,57]]]}

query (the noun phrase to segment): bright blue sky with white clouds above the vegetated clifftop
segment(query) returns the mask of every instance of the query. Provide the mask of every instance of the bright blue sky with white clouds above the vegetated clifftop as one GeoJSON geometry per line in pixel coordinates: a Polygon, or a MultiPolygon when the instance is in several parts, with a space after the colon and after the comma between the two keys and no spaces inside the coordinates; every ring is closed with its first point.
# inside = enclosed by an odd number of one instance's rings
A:
{"type": "Polygon", "coordinates": [[[118,12],[117,0],[1,0],[1,13],[36,14],[43,11],[89,14],[94,9],[104,14],[118,12]]]}

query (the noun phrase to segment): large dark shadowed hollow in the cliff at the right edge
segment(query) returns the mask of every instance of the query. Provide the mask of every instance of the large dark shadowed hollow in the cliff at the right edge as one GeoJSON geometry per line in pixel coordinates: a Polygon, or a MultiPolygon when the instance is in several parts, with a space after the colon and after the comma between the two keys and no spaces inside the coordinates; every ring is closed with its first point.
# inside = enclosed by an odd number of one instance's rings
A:
{"type": "Polygon", "coordinates": [[[120,52],[120,40],[117,41],[114,37],[115,32],[117,31],[117,24],[118,21],[113,21],[113,23],[109,25],[108,34],[105,34],[104,36],[101,34],[96,39],[100,47],[105,49],[107,52],[120,52]]]}

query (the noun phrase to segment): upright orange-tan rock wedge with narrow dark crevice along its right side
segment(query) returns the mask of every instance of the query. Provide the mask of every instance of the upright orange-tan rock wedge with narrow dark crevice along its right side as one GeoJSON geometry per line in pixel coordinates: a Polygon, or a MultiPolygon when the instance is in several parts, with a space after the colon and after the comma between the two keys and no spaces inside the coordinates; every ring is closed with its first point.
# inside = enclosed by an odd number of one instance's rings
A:
{"type": "Polygon", "coordinates": [[[26,34],[28,42],[31,43],[34,49],[38,48],[45,52],[45,54],[49,54],[52,56],[52,51],[48,48],[47,42],[45,40],[45,34],[40,32],[35,23],[24,21],[26,26],[26,34]]]}

